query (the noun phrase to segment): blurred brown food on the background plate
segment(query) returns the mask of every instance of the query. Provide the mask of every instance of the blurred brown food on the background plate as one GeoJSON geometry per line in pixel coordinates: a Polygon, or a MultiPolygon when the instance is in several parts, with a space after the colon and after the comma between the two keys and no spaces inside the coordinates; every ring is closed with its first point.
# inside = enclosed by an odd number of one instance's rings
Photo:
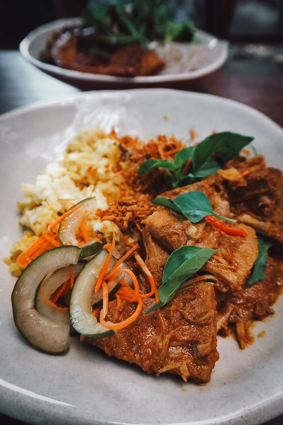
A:
{"type": "Polygon", "coordinates": [[[124,77],[154,75],[165,66],[153,50],[137,43],[113,45],[104,34],[84,27],[54,31],[41,59],[73,71],[124,77]]]}

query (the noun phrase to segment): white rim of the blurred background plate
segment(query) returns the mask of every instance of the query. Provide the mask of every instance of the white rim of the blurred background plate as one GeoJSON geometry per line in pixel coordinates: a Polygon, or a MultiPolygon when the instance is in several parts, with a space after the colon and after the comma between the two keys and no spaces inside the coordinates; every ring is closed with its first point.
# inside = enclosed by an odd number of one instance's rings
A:
{"type": "Polygon", "coordinates": [[[197,79],[200,77],[205,77],[207,74],[211,74],[217,69],[221,68],[228,57],[229,42],[227,40],[220,40],[218,37],[213,34],[209,34],[206,31],[197,29],[196,34],[207,34],[215,38],[218,43],[222,46],[220,57],[210,65],[199,68],[196,71],[188,71],[179,74],[168,74],[168,75],[153,75],[153,76],[142,76],[142,77],[115,77],[112,75],[101,75],[101,74],[91,74],[81,71],[73,71],[70,69],[60,68],[56,65],[50,65],[45,62],[41,62],[39,59],[34,58],[28,51],[29,45],[36,38],[36,36],[45,33],[48,30],[56,28],[54,24],[58,23],[58,27],[63,25],[78,25],[81,18],[62,18],[55,21],[43,24],[33,31],[31,31],[21,42],[20,42],[20,52],[22,56],[36,68],[41,69],[42,71],[55,74],[56,76],[65,77],[67,79],[76,79],[85,82],[105,82],[105,83],[123,83],[123,84],[153,84],[159,82],[173,82],[173,81],[188,81],[197,79]]]}

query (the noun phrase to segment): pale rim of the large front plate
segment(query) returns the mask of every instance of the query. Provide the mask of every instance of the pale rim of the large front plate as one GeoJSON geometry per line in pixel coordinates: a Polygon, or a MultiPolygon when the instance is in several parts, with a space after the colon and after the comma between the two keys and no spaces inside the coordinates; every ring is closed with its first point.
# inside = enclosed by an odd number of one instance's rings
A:
{"type": "MultiPolygon", "coordinates": [[[[123,95],[129,94],[129,92],[136,92],[137,94],[139,93],[143,93],[146,94],[146,92],[151,91],[151,92],[156,92],[156,94],[160,94],[160,93],[173,93],[176,96],[184,96],[184,97],[198,97],[200,99],[214,99],[217,100],[219,102],[224,102],[225,104],[229,104],[229,105],[233,105],[243,111],[247,111],[248,113],[252,113],[252,115],[254,115],[257,118],[260,118],[262,120],[264,120],[264,123],[273,131],[276,131],[280,136],[283,136],[283,128],[281,128],[279,125],[277,125],[274,121],[272,121],[272,119],[270,119],[269,117],[267,117],[266,115],[264,115],[263,113],[261,113],[260,111],[257,111],[255,108],[252,108],[248,105],[242,104],[241,102],[237,102],[231,99],[227,99],[227,98],[223,98],[220,96],[215,96],[215,95],[211,95],[211,94],[202,94],[202,93],[197,93],[197,92],[190,92],[190,91],[180,91],[180,90],[174,90],[174,89],[168,89],[168,88],[147,88],[147,89],[131,89],[129,90],[107,90],[107,91],[87,91],[87,92],[80,92],[77,94],[72,94],[70,96],[65,96],[65,97],[58,97],[58,98],[53,98],[53,99],[48,99],[42,102],[35,102],[31,105],[27,105],[21,108],[17,108],[15,110],[12,111],[8,111],[6,113],[3,113],[2,115],[0,115],[0,123],[1,122],[5,122],[6,117],[13,117],[13,116],[17,116],[20,115],[22,113],[28,113],[34,110],[38,110],[41,108],[45,108],[48,106],[52,106],[52,105],[56,105],[58,103],[62,103],[63,104],[69,104],[72,103],[74,100],[76,99],[83,99],[84,97],[95,97],[95,98],[101,98],[103,96],[109,95],[109,96],[118,96],[118,97],[123,97],[123,95]]],[[[3,382],[1,382],[2,380],[0,379],[0,399],[3,399],[3,402],[11,399],[11,391],[9,391],[9,389],[11,390],[11,386],[13,387],[13,384],[9,384],[9,387],[5,387],[3,386],[3,382]]],[[[26,394],[27,395],[27,394],[26,394]]],[[[17,404],[25,404],[25,400],[26,400],[26,395],[23,394],[17,394],[17,404]]],[[[42,400],[44,401],[44,400],[42,400]]],[[[48,401],[48,400],[45,400],[48,401]]],[[[274,394],[266,399],[261,399],[259,402],[254,403],[253,405],[248,406],[247,408],[241,409],[239,411],[236,412],[232,412],[231,414],[228,415],[224,415],[224,416],[220,416],[218,418],[215,419],[207,419],[207,420],[201,420],[201,421],[194,421],[194,422],[184,422],[182,423],[182,425],[240,425],[240,424],[247,424],[249,423],[249,425],[255,425],[258,424],[258,419],[255,418],[255,414],[260,414],[261,412],[265,412],[266,409],[269,408],[269,413],[267,415],[265,415],[264,420],[270,420],[273,419],[274,417],[278,416],[278,414],[283,413],[283,406],[282,406],[282,401],[283,401],[283,390],[280,391],[277,394],[274,394]],[[281,406],[281,408],[280,408],[281,406]],[[279,413],[278,413],[279,412],[279,413]],[[243,417],[243,419],[241,419],[241,417],[243,417]],[[243,420],[243,422],[242,422],[243,420]],[[250,422],[244,422],[244,421],[250,421],[250,422]]],[[[2,403],[1,403],[2,404],[2,403]]],[[[23,408],[23,410],[27,411],[27,412],[34,412],[34,414],[36,412],[38,412],[40,414],[40,412],[42,412],[42,414],[47,414],[47,412],[50,411],[50,408],[48,408],[48,405],[42,405],[42,404],[38,404],[36,405],[36,408],[33,407],[28,407],[29,403],[26,403],[26,407],[23,408]]],[[[54,406],[55,407],[55,406],[54,406]]],[[[1,411],[3,412],[3,414],[8,414],[11,415],[11,413],[14,415],[13,417],[17,418],[17,419],[23,419],[23,416],[20,416],[20,414],[15,413],[14,411],[8,411],[7,409],[3,409],[3,407],[1,407],[1,411]]],[[[54,408],[54,412],[55,412],[55,408],[54,408]]],[[[22,414],[24,412],[22,411],[22,414]]],[[[65,413],[62,411],[61,415],[59,414],[58,416],[58,411],[56,412],[58,421],[62,420],[61,423],[68,423],[68,424],[76,424],[78,423],[78,418],[81,417],[81,415],[76,415],[75,412],[73,412],[73,414],[71,414],[70,411],[66,411],[65,413]],[[66,421],[66,422],[65,422],[66,421]]],[[[27,415],[25,415],[25,418],[27,417],[27,415]]],[[[105,422],[105,421],[98,421],[98,419],[93,418],[92,416],[90,416],[89,418],[85,417],[85,424],[88,423],[100,423],[100,424],[109,424],[112,423],[114,424],[114,422],[105,422]],[[93,422],[92,422],[93,420],[93,422]]],[[[27,420],[27,419],[24,419],[27,420]]],[[[32,420],[31,423],[37,424],[39,423],[39,419],[36,420],[35,419],[31,419],[29,418],[28,420],[32,420]]],[[[52,422],[53,423],[53,422],[52,422]]],[[[60,423],[60,422],[58,422],[60,423]]],[[[117,424],[117,422],[116,422],[117,424]]],[[[125,424],[126,425],[126,424],[125,424]]],[[[137,424],[136,424],[137,425],[137,424]]],[[[181,425],[181,424],[171,424],[171,425],[181,425]]]]}

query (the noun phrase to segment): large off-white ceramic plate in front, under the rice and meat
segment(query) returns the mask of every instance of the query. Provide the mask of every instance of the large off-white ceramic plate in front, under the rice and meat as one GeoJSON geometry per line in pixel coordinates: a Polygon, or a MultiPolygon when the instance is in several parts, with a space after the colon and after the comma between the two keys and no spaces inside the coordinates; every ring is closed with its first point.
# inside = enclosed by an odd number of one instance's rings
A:
{"type": "MultiPolygon", "coordinates": [[[[283,130],[258,111],[207,94],[166,89],[80,93],[0,117],[0,257],[22,236],[16,202],[82,126],[149,139],[159,133],[202,139],[212,130],[255,136],[269,165],[282,168],[283,130]],[[168,116],[168,120],[164,116],[168,116]]],[[[0,411],[33,424],[255,425],[283,413],[283,297],[275,316],[257,323],[263,339],[241,351],[219,338],[220,360],[202,386],[170,374],[147,375],[71,338],[70,351],[50,356],[16,330],[10,295],[15,278],[0,263],[0,411]],[[182,391],[182,390],[186,391],[182,391]]]]}

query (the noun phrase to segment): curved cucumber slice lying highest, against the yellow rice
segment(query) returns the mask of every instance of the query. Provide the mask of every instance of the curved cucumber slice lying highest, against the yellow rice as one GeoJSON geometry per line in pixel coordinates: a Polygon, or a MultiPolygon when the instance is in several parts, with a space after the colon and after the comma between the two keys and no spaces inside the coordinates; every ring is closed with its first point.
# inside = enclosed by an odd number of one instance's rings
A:
{"type": "Polygon", "coordinates": [[[81,207],[68,215],[59,225],[58,238],[62,245],[78,245],[76,232],[81,224],[81,220],[89,211],[97,209],[97,202],[95,198],[83,199],[73,207],[76,207],[77,205],[80,205],[81,207]]]}

